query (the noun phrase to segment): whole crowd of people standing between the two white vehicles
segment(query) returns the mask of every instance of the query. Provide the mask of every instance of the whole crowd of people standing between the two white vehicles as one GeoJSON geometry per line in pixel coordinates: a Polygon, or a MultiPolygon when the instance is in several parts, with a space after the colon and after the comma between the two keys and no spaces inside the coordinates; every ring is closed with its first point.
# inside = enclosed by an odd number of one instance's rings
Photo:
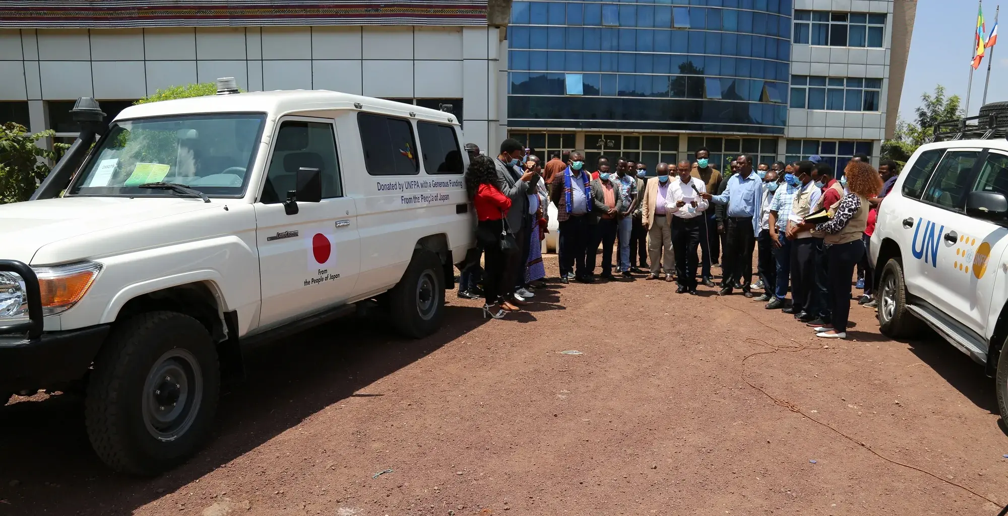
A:
{"type": "Polygon", "coordinates": [[[658,163],[649,177],[644,163],[624,157],[600,157],[596,170],[587,170],[577,150],[542,163],[514,139],[501,144],[496,158],[474,144],[466,150],[478,249],[461,266],[459,296],[483,297],[484,316],[521,310],[545,286],[541,242],[550,203],[557,210],[561,283],[646,274],[674,281],[679,294],[697,295],[700,285],[719,295],[741,290],[825,339],[847,338],[856,269],[858,303],[877,306],[867,248],[878,206],[898,173],[895,162],[876,170],[858,154],[836,173],[817,155],[754,166],[752,156],[740,154],[722,173],[702,147],[696,160],[658,163]]]}

